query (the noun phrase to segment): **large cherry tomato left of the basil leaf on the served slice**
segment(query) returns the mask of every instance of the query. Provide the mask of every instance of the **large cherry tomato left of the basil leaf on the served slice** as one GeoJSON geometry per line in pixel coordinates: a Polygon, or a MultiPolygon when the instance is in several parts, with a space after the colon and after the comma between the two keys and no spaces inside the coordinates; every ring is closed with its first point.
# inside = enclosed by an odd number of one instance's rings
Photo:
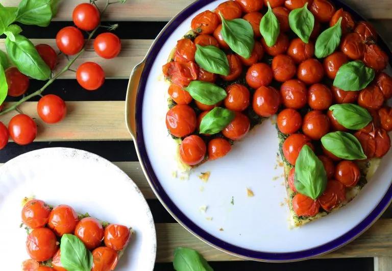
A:
{"type": "Polygon", "coordinates": [[[51,259],[58,249],[56,235],[48,228],[33,229],[27,236],[26,249],[33,260],[51,259]]]}

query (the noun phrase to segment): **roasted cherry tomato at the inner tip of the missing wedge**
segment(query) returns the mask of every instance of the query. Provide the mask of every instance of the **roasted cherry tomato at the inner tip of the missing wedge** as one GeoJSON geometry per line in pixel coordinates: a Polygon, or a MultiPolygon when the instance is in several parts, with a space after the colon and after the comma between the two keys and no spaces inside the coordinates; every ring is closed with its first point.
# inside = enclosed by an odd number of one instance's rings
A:
{"type": "Polygon", "coordinates": [[[273,87],[261,86],[253,94],[253,110],[262,117],[269,117],[278,112],[280,94],[273,87]]]}

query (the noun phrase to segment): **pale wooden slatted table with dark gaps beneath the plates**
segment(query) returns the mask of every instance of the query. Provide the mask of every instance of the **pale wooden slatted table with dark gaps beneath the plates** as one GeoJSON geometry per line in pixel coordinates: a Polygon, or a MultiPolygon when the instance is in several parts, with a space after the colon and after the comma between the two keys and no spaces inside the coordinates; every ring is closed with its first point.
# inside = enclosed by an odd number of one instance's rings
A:
{"type": "MultiPolygon", "coordinates": [[[[19,0],[2,0],[4,6],[17,6],[19,0]]],[[[59,13],[50,27],[22,26],[23,35],[33,42],[55,46],[56,33],[65,26],[72,25],[71,14],[74,7],[85,1],[63,0],[59,13]]],[[[105,1],[97,1],[103,5],[105,1]]],[[[192,0],[128,0],[124,5],[110,6],[107,22],[118,22],[114,32],[122,39],[122,51],[113,60],[103,60],[94,52],[86,52],[76,63],[94,61],[102,65],[107,80],[105,85],[94,92],[83,90],[75,80],[75,73],[65,73],[61,79],[47,88],[45,94],[58,94],[67,102],[68,115],[56,125],[46,125],[37,116],[36,101],[20,107],[23,113],[36,117],[38,137],[30,145],[18,146],[11,142],[0,152],[0,163],[32,150],[43,147],[75,147],[101,155],[118,165],[139,186],[154,215],[157,229],[158,252],[155,270],[173,270],[173,251],[184,246],[198,250],[211,261],[215,270],[392,270],[392,208],[376,224],[355,241],[322,258],[299,263],[271,264],[243,261],[240,258],[220,252],[183,229],[164,210],[150,189],[137,160],[135,147],[124,122],[124,100],[128,78],[132,68],[140,62],[153,39],[165,23],[189,5],[192,0]],[[230,262],[229,262],[230,261],[230,262]]],[[[379,33],[392,48],[392,0],[345,0],[354,9],[369,18],[379,33]]],[[[0,49],[4,39],[0,39],[0,49]]],[[[59,67],[64,65],[61,58],[59,67]]],[[[30,91],[42,82],[31,81],[30,91]]],[[[15,100],[10,100],[15,101],[15,100]]],[[[0,117],[5,124],[16,112],[0,117]]]]}

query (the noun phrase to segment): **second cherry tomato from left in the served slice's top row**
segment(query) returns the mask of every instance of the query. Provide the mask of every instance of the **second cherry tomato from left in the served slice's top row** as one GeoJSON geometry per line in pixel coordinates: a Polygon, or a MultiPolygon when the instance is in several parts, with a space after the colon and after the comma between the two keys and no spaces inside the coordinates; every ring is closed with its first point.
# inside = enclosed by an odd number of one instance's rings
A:
{"type": "Polygon", "coordinates": [[[68,205],[62,204],[52,210],[47,226],[57,236],[63,236],[65,233],[73,234],[78,222],[79,218],[75,210],[68,205]]]}

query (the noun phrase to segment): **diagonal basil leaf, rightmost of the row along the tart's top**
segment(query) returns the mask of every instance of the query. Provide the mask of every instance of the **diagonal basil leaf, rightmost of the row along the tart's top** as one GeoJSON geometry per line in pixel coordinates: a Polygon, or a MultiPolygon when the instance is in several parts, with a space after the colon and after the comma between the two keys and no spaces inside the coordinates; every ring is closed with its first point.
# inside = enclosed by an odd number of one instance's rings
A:
{"type": "Polygon", "coordinates": [[[335,52],[341,39],[341,17],[334,26],[327,28],[318,36],[314,45],[314,55],[324,58],[335,52]]]}

